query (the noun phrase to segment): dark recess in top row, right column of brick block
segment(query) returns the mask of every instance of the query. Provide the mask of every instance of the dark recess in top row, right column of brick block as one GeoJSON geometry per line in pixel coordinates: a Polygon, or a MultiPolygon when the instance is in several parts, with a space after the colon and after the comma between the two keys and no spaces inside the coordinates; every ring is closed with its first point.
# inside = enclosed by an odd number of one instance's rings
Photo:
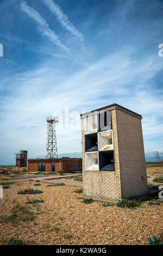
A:
{"type": "Polygon", "coordinates": [[[112,129],[111,111],[105,111],[98,114],[98,131],[108,131],[112,129]]]}

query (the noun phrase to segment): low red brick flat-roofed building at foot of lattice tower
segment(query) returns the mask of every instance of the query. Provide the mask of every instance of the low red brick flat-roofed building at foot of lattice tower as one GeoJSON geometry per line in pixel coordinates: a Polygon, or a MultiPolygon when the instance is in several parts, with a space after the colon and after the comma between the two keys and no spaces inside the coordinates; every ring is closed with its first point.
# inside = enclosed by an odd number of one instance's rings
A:
{"type": "Polygon", "coordinates": [[[28,172],[80,172],[82,158],[28,159],[28,172]]]}

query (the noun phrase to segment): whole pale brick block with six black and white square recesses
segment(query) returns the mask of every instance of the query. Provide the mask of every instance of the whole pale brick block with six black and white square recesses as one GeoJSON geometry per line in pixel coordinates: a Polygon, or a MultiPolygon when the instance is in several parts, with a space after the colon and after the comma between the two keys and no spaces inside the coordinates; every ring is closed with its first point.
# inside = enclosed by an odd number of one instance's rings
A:
{"type": "Polygon", "coordinates": [[[146,193],[141,115],[112,104],[80,117],[83,195],[118,200],[146,193]]]}

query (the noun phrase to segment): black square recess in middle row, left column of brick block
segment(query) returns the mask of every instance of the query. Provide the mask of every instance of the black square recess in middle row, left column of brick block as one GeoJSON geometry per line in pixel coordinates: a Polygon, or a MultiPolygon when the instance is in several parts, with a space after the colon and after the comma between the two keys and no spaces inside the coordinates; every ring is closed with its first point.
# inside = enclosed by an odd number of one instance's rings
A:
{"type": "Polygon", "coordinates": [[[85,151],[98,151],[97,133],[85,135],[85,151]]]}

